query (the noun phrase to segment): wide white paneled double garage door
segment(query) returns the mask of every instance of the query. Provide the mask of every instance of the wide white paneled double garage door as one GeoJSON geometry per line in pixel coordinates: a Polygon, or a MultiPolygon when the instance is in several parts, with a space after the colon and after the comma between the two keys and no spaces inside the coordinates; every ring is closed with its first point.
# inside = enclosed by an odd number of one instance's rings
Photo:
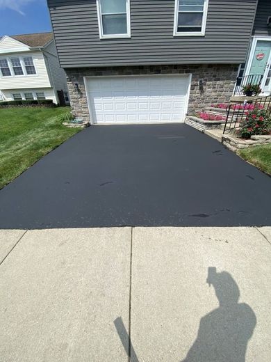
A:
{"type": "Polygon", "coordinates": [[[88,77],[92,124],[183,122],[189,76],[88,77]]]}

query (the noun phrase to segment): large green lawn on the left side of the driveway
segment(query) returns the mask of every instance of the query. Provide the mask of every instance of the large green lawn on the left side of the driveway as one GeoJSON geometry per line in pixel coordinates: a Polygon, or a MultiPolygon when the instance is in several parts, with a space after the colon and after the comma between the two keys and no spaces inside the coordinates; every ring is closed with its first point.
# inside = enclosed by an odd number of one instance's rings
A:
{"type": "Polygon", "coordinates": [[[62,125],[68,107],[0,109],[0,189],[80,129],[62,125]]]}

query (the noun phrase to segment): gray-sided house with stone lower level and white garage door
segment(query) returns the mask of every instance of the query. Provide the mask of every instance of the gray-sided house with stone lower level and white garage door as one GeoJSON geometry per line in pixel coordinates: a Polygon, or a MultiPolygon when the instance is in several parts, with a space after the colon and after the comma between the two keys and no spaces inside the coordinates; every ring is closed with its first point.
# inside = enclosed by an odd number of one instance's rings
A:
{"type": "Polygon", "coordinates": [[[270,0],[47,2],[72,109],[91,124],[183,122],[229,102],[238,72],[268,87],[270,0]]]}

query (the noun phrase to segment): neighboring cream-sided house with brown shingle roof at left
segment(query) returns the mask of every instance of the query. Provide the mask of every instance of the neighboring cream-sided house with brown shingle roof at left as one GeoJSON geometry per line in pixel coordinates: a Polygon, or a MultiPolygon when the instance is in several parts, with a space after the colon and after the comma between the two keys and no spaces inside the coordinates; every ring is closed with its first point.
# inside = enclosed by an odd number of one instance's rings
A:
{"type": "Polygon", "coordinates": [[[0,39],[0,100],[69,101],[66,75],[58,62],[53,33],[0,39]],[[63,92],[62,92],[63,91],[63,92]]]}

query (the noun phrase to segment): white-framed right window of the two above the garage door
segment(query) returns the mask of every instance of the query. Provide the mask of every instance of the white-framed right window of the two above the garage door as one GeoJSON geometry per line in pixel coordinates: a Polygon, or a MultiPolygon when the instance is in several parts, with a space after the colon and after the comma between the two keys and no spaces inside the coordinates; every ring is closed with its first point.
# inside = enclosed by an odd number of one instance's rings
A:
{"type": "Polygon", "coordinates": [[[204,36],[208,0],[175,0],[174,36],[204,36]]]}

